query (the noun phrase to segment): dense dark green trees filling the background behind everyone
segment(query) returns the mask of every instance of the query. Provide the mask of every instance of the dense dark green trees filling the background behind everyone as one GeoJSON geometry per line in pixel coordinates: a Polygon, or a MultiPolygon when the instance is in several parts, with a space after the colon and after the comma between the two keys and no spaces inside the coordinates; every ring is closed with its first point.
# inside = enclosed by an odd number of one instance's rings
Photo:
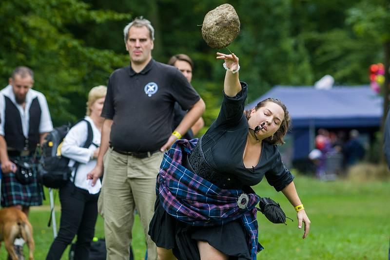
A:
{"type": "Polygon", "coordinates": [[[312,85],[325,74],[338,85],[369,84],[370,64],[388,64],[387,0],[2,0],[1,82],[7,84],[16,66],[31,67],[55,125],[75,121],[85,112],[88,91],[129,63],[122,30],[144,16],[156,29],[156,60],[167,62],[177,53],[194,59],[193,85],[206,102],[209,125],[218,112],[224,70],[200,25],[225,2],[241,21],[229,49],[240,57],[248,101],[275,84],[312,85]]]}

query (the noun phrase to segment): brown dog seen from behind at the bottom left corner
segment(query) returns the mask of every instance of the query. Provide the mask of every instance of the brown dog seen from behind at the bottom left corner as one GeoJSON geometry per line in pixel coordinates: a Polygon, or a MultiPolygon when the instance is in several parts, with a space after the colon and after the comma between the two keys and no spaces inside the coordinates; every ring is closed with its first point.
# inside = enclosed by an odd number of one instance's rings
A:
{"type": "Polygon", "coordinates": [[[29,248],[29,260],[33,260],[35,242],[33,239],[33,227],[26,214],[16,207],[7,207],[0,210],[0,246],[4,241],[5,249],[12,260],[18,260],[14,250],[16,238],[23,238],[29,248]]]}

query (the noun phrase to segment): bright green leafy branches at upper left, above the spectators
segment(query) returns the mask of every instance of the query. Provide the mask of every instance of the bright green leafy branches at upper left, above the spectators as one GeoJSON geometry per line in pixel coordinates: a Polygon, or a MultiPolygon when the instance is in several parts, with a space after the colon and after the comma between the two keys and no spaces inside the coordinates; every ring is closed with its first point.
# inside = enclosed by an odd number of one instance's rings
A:
{"type": "Polygon", "coordinates": [[[31,67],[35,88],[46,95],[54,124],[75,121],[84,114],[86,93],[105,85],[126,56],[85,46],[66,26],[130,18],[90,10],[89,4],[78,0],[1,1],[0,78],[6,82],[15,67],[31,67]]]}

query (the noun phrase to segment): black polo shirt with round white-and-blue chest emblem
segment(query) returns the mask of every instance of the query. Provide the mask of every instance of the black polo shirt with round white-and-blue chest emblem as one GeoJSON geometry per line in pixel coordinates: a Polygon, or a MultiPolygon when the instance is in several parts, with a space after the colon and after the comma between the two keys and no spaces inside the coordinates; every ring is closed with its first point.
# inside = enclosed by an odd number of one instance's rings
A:
{"type": "Polygon", "coordinates": [[[160,149],[172,134],[175,102],[189,110],[199,99],[179,70],[154,59],[139,73],[131,66],[117,69],[101,113],[113,120],[110,144],[132,152],[160,149]]]}

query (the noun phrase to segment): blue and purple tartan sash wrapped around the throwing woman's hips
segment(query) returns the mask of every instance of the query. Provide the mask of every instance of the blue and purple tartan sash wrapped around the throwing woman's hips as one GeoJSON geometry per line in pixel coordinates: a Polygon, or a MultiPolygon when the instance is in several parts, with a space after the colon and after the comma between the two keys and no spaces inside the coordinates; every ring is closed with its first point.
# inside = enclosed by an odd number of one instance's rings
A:
{"type": "Polygon", "coordinates": [[[259,196],[247,194],[249,203],[239,208],[240,189],[221,189],[181,165],[182,152],[191,153],[198,139],[177,140],[164,153],[156,182],[156,195],[165,211],[194,226],[222,225],[241,218],[247,230],[251,257],[263,249],[258,243],[256,204],[259,196]]]}

